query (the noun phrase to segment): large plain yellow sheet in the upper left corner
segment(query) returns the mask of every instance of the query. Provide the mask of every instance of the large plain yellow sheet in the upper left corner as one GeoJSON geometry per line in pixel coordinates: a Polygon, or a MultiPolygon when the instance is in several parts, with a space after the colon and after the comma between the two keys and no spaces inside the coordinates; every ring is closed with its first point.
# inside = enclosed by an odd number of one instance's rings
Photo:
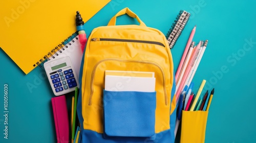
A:
{"type": "Polygon", "coordinates": [[[0,1],[0,47],[28,74],[51,57],[56,45],[70,39],[76,11],[86,22],[110,1],[0,1]]]}

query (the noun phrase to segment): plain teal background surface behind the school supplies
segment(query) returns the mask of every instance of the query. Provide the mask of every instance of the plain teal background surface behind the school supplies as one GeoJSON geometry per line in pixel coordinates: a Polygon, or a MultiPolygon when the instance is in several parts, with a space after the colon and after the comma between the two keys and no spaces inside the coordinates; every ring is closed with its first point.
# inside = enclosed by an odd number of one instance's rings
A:
{"type": "MultiPolygon", "coordinates": [[[[215,88],[205,142],[256,142],[255,6],[255,1],[249,0],[113,0],[85,26],[89,36],[94,28],[106,26],[119,10],[129,7],[148,27],[166,34],[180,10],[191,13],[172,54],[176,71],[195,25],[193,41],[209,40],[193,79],[194,92],[203,79],[207,81],[203,92],[215,88]],[[249,44],[248,41],[252,42],[249,44]]],[[[120,16],[117,20],[118,25],[137,23],[127,16],[120,16]]],[[[54,94],[44,69],[37,67],[25,75],[2,49],[0,58],[0,142],[56,142],[51,106],[54,94]],[[4,84],[8,84],[9,89],[8,139],[4,139],[3,134],[4,84]],[[33,88],[29,89],[28,85],[33,85],[33,88]]]]}

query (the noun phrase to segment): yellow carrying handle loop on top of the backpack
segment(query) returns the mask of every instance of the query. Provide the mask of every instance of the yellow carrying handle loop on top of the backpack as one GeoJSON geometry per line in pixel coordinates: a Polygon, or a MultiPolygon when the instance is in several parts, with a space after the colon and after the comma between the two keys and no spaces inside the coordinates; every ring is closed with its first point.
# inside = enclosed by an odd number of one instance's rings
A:
{"type": "Polygon", "coordinates": [[[138,22],[140,23],[140,26],[146,26],[145,23],[142,22],[140,20],[140,18],[134,12],[132,12],[129,8],[124,8],[124,9],[120,10],[115,16],[113,16],[110,19],[108,26],[115,26],[116,25],[116,17],[124,15],[124,14],[127,14],[130,17],[136,18],[138,20],[138,22]]]}

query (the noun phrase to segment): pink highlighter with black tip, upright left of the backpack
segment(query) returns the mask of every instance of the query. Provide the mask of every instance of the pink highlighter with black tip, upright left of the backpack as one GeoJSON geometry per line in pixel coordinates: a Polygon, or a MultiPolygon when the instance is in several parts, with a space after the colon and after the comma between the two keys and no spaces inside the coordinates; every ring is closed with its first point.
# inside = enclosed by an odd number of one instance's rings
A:
{"type": "Polygon", "coordinates": [[[83,53],[84,47],[86,46],[87,38],[86,31],[84,31],[84,22],[79,11],[76,12],[76,29],[78,31],[79,42],[81,43],[81,50],[83,53]]]}

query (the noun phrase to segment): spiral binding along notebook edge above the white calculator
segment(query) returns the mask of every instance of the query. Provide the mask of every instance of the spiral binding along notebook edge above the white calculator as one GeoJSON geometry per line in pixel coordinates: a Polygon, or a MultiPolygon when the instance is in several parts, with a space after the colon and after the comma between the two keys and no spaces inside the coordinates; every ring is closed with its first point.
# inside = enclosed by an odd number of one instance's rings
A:
{"type": "Polygon", "coordinates": [[[64,51],[65,49],[67,49],[69,47],[69,45],[72,45],[72,43],[74,43],[75,41],[73,40],[74,38],[76,38],[76,40],[78,40],[77,38],[78,33],[73,33],[71,36],[69,36],[67,39],[65,39],[64,41],[61,42],[61,44],[58,44],[58,46],[55,46],[54,49],[52,49],[47,55],[44,56],[44,58],[40,59],[38,62],[36,62],[36,64],[34,64],[33,66],[39,66],[40,68],[43,68],[43,66],[41,65],[41,63],[44,63],[45,60],[49,61],[50,57],[52,57],[53,59],[55,57],[57,57],[59,53],[62,53],[62,51],[64,51]],[[66,44],[65,44],[66,43],[66,44]]]}

